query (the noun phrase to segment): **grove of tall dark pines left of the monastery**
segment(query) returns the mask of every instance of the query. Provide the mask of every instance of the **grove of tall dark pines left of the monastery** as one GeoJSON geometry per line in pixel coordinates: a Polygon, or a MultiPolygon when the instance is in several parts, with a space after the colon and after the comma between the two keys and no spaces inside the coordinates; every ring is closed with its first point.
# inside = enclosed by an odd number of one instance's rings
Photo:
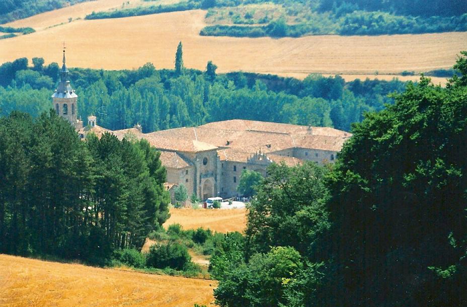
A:
{"type": "Polygon", "coordinates": [[[0,118],[0,252],[101,263],[168,218],[166,171],[146,141],[82,141],[55,112],[0,118]]]}

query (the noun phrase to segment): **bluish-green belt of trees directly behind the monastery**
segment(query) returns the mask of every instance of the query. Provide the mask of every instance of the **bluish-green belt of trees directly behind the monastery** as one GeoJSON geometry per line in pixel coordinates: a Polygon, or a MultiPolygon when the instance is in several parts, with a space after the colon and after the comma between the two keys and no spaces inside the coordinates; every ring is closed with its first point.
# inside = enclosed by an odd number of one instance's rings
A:
{"type": "MultiPolygon", "coordinates": [[[[21,58],[0,66],[0,115],[14,110],[37,117],[51,108],[57,63],[33,67],[21,58]]],[[[97,116],[98,124],[116,130],[140,123],[144,132],[194,126],[227,119],[250,119],[349,130],[366,111],[391,104],[387,94],[405,83],[374,80],[345,82],[340,76],[309,75],[300,81],[275,75],[215,73],[182,68],[156,70],[150,63],[136,70],[70,69],[79,116],[97,116]]]]}

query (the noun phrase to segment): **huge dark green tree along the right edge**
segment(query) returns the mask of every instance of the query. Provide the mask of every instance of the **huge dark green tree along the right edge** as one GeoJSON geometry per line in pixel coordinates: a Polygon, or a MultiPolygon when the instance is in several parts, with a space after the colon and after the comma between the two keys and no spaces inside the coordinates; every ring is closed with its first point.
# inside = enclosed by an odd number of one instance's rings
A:
{"type": "Polygon", "coordinates": [[[336,305],[467,302],[465,97],[422,77],[353,126],[330,177],[336,305]]]}

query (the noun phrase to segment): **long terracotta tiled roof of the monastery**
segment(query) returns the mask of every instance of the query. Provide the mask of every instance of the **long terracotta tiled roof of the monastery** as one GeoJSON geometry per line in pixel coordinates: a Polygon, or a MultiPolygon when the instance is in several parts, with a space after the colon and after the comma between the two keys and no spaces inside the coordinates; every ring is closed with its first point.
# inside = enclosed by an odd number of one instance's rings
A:
{"type": "MultiPolygon", "coordinates": [[[[181,152],[199,152],[225,149],[227,157],[221,160],[245,161],[257,151],[274,155],[289,148],[310,148],[339,151],[352,134],[330,127],[309,127],[252,120],[226,120],[199,127],[182,127],[151,133],[136,128],[113,131],[119,138],[131,133],[145,138],[157,149],[181,152]],[[235,150],[228,150],[235,149],[235,150]],[[231,154],[229,156],[228,154],[231,154]],[[235,157],[235,158],[234,158],[235,157]]],[[[218,150],[222,156],[222,150],[218,150]]],[[[276,158],[277,160],[277,158],[276,158]]],[[[288,164],[295,164],[289,159],[288,164]]],[[[299,162],[298,162],[299,163],[299,162]]]]}

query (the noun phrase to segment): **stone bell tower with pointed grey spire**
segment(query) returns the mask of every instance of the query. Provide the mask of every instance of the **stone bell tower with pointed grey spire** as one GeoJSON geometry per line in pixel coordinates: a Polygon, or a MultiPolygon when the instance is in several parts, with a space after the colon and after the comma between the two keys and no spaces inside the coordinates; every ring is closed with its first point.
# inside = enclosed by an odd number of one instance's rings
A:
{"type": "Polygon", "coordinates": [[[68,69],[65,65],[65,49],[63,49],[63,65],[60,69],[60,83],[52,95],[53,108],[57,115],[66,119],[76,130],[83,128],[83,122],[77,119],[76,100],[78,95],[71,89],[68,80],[68,69]]]}

